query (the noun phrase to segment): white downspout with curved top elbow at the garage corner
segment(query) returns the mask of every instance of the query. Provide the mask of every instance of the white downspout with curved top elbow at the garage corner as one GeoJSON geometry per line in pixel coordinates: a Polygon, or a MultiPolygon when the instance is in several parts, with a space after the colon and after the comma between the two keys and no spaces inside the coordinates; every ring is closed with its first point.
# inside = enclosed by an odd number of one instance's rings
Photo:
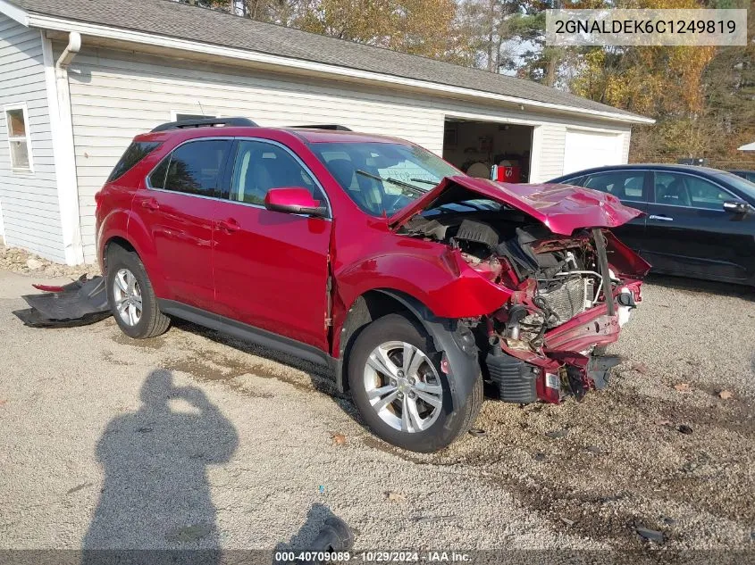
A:
{"type": "MultiPolygon", "coordinates": [[[[47,40],[49,41],[49,40],[47,40]]],[[[52,44],[48,44],[52,52],[52,44]]],[[[71,117],[71,90],[68,82],[68,68],[81,49],[81,35],[78,31],[68,34],[68,45],[55,62],[55,91],[57,95],[57,137],[58,151],[55,152],[55,168],[58,170],[58,195],[61,207],[63,228],[63,248],[65,261],[70,265],[84,262],[84,245],[81,238],[81,218],[79,203],[79,179],[76,168],[76,152],[73,145],[73,122],[71,117]]]]}

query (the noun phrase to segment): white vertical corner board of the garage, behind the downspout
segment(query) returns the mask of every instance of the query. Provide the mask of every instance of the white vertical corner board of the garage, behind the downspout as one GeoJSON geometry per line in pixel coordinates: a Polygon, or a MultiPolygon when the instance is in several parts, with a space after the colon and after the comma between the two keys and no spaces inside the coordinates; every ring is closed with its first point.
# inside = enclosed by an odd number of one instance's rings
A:
{"type": "Polygon", "coordinates": [[[76,176],[76,154],[73,148],[68,72],[55,67],[53,44],[45,37],[44,30],[40,31],[40,35],[42,61],[45,65],[47,107],[50,112],[50,133],[53,138],[55,183],[63,231],[63,253],[67,264],[77,265],[84,262],[84,245],[81,243],[79,180],[76,176]]]}

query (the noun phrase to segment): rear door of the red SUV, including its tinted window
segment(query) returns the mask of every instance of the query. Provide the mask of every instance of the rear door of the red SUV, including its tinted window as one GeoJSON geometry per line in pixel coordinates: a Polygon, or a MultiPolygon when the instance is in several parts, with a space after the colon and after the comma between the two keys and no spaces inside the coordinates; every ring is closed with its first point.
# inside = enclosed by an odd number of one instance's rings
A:
{"type": "Polygon", "coordinates": [[[230,139],[179,145],[149,175],[132,208],[155,243],[155,259],[170,295],[204,310],[214,306],[214,206],[231,153],[230,139]]]}

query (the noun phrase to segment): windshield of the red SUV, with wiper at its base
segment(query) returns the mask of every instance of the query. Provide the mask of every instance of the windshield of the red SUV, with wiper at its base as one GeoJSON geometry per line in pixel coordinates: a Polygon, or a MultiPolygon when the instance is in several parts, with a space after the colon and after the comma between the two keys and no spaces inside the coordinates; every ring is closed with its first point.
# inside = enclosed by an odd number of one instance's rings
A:
{"type": "Polygon", "coordinates": [[[365,142],[310,147],[349,198],[373,216],[390,216],[443,177],[463,174],[416,145],[365,142]]]}

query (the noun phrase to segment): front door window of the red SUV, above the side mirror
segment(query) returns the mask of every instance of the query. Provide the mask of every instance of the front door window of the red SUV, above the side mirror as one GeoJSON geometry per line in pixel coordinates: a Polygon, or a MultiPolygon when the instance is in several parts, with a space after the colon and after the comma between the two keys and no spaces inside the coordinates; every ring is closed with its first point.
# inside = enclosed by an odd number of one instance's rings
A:
{"type": "Polygon", "coordinates": [[[304,187],[315,200],[325,197],[315,180],[288,151],[264,141],[239,141],[233,162],[231,200],[264,205],[271,188],[304,187]]]}

